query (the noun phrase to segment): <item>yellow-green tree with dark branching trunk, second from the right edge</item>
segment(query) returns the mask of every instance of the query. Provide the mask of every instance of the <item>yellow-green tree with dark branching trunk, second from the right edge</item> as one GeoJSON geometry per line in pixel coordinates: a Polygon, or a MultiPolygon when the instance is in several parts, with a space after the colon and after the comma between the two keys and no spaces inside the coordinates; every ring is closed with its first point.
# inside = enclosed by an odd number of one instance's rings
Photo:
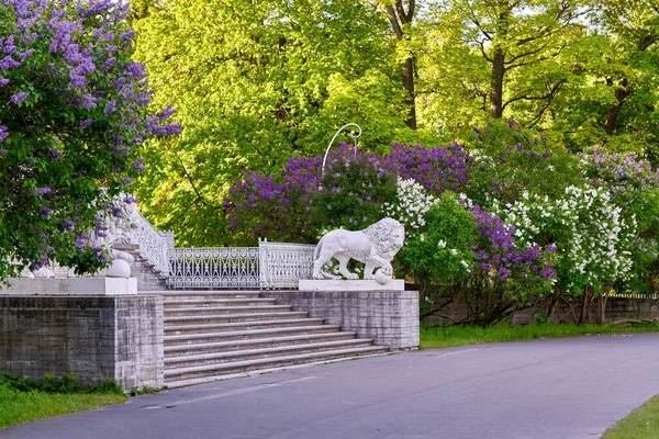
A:
{"type": "Polygon", "coordinates": [[[580,1],[451,0],[423,26],[420,93],[442,127],[506,114],[540,123],[570,79],[569,49],[585,34],[580,1]],[[434,95],[437,93],[437,95],[434,95]],[[447,101],[449,105],[444,105],[447,101]]]}

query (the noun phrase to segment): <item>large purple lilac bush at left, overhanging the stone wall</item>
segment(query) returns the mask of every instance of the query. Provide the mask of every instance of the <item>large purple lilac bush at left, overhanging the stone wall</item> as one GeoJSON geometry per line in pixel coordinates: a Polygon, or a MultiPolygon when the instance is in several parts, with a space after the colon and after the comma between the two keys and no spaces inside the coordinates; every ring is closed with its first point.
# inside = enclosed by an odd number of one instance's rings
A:
{"type": "Polygon", "coordinates": [[[0,279],[53,260],[102,267],[107,256],[88,243],[145,170],[137,146],[180,132],[167,123],[171,108],[147,110],[153,90],[131,59],[127,9],[0,0],[0,279]]]}

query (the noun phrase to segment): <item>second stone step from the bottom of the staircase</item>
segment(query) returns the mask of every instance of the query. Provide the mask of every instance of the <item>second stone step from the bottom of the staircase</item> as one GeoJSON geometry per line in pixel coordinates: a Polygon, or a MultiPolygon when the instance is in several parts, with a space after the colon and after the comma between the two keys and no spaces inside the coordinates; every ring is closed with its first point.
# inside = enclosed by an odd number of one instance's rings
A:
{"type": "Polygon", "coordinates": [[[370,338],[354,338],[351,340],[320,341],[308,345],[279,346],[258,349],[241,349],[227,352],[210,352],[182,354],[165,358],[165,369],[194,368],[198,365],[212,365],[230,362],[255,360],[259,358],[277,358],[331,350],[354,349],[372,346],[370,338]]]}

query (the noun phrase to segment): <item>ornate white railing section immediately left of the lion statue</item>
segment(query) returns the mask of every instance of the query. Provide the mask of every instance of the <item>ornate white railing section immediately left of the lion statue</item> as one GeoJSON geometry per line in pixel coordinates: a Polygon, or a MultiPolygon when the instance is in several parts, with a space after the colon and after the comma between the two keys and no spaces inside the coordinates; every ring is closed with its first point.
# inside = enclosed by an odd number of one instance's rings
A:
{"type": "Polygon", "coordinates": [[[300,279],[311,279],[314,249],[309,244],[260,241],[260,286],[297,289],[300,279]]]}

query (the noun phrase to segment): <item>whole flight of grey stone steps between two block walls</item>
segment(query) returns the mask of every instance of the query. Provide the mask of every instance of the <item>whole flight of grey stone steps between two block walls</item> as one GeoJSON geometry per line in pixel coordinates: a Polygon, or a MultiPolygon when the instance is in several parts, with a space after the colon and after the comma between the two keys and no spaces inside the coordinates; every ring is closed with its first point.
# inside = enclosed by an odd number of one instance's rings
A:
{"type": "Polygon", "coordinates": [[[258,291],[167,291],[164,304],[170,389],[389,350],[258,291]]]}

